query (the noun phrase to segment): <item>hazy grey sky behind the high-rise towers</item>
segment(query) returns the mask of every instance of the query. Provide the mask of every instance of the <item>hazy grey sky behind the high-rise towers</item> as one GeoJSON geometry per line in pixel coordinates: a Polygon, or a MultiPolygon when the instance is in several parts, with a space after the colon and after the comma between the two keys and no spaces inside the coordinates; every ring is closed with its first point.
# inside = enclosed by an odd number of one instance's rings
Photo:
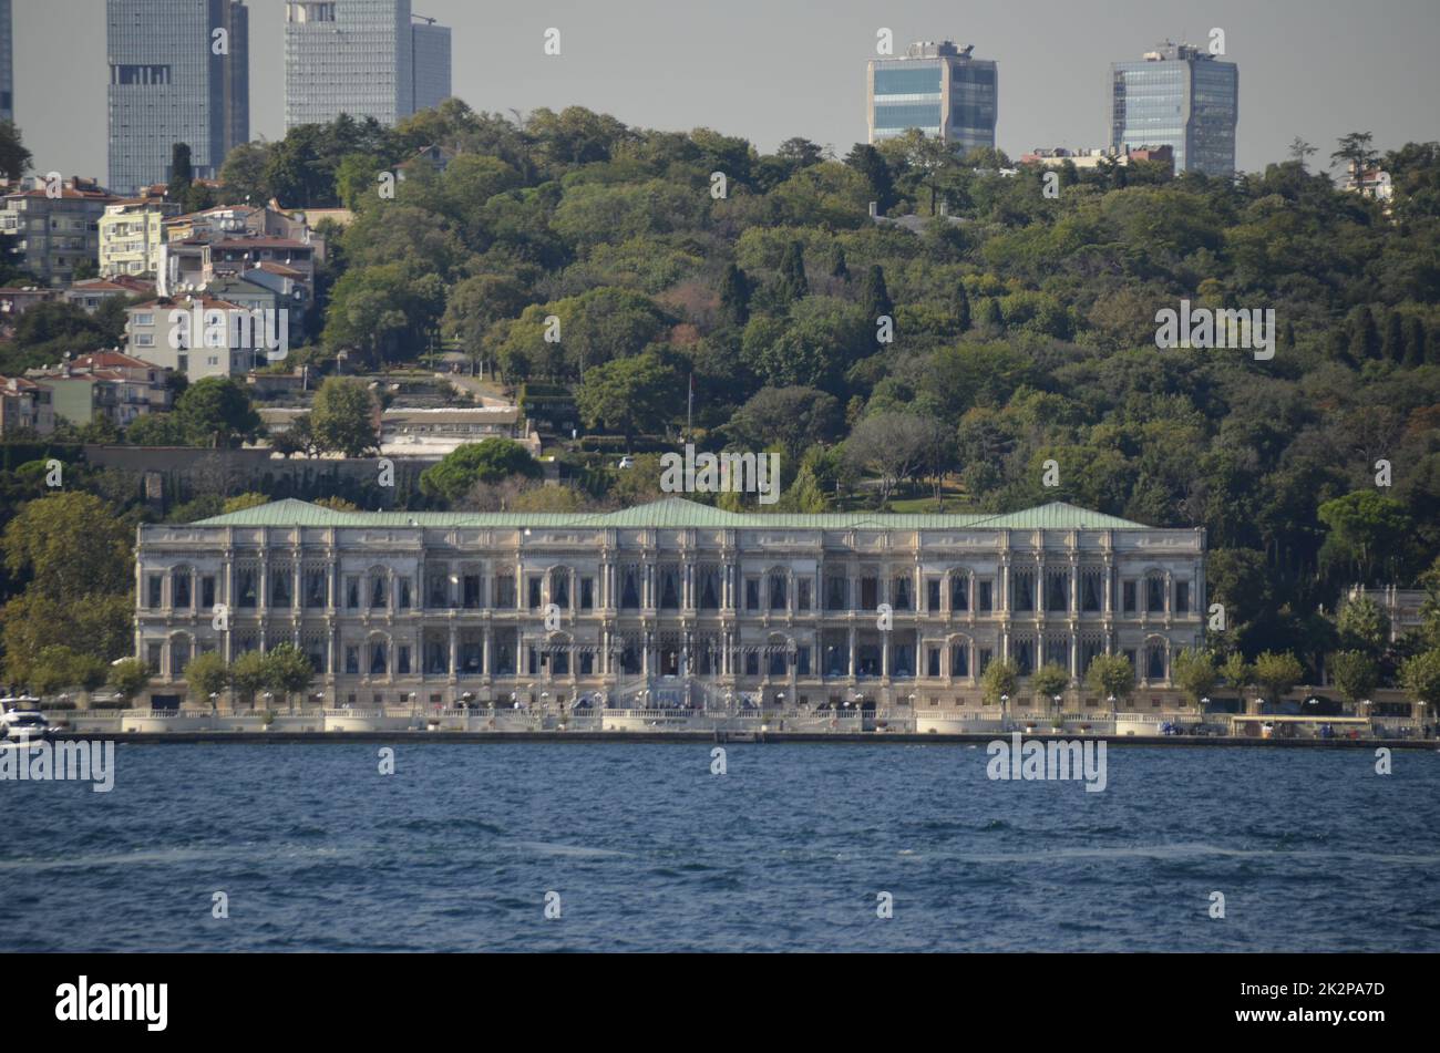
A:
{"type": "MultiPolygon", "coordinates": [[[[251,0],[251,135],[284,134],[282,0],[251,0]]],[[[1381,150],[1440,140],[1440,0],[415,0],[454,30],[454,91],[475,109],[585,105],[631,125],[711,127],[773,150],[865,138],[876,30],[973,43],[999,63],[998,144],[1104,145],[1109,63],[1225,30],[1240,66],[1241,168],[1300,135],[1381,150]],[[562,32],[559,58],[543,33],[562,32]]],[[[104,0],[16,0],[16,121],[39,171],[105,178],[104,0]]],[[[1318,158],[1319,160],[1319,158],[1318,158]]]]}

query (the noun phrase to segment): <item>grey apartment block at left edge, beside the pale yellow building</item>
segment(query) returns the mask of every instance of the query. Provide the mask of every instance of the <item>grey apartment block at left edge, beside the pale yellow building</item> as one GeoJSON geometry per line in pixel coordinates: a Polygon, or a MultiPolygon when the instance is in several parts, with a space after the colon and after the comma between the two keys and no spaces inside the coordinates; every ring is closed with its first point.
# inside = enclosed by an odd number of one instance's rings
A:
{"type": "Polygon", "coordinates": [[[76,269],[98,265],[99,222],[115,197],[94,180],[49,184],[4,196],[0,234],[14,239],[17,263],[50,285],[75,281],[76,269]]]}

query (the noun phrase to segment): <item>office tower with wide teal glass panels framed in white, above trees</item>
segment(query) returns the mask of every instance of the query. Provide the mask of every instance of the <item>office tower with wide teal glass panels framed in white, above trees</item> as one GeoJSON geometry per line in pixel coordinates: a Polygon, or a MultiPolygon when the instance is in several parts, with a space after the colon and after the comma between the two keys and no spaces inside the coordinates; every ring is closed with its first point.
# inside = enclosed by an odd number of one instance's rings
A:
{"type": "Polygon", "coordinates": [[[867,73],[870,141],[919,128],[959,154],[995,145],[999,86],[995,63],[949,40],[913,43],[903,56],[871,59],[867,73]]]}

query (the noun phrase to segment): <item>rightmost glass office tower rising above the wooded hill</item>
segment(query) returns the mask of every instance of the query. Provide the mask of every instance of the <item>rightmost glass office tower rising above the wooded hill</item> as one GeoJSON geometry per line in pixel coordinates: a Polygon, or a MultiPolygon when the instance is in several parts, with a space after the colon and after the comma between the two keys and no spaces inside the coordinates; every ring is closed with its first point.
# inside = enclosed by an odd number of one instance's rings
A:
{"type": "Polygon", "coordinates": [[[1231,176],[1240,69],[1166,40],[1139,62],[1110,65],[1110,147],[1171,147],[1175,171],[1231,176]]]}

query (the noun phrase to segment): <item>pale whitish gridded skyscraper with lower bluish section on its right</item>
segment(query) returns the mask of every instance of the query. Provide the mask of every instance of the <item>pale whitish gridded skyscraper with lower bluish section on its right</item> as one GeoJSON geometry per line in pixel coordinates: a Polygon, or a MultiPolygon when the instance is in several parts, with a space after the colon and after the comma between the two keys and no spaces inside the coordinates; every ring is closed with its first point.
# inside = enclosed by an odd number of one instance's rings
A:
{"type": "Polygon", "coordinates": [[[412,26],[410,0],[287,0],[287,128],[341,114],[395,124],[448,95],[449,30],[412,26]]]}

